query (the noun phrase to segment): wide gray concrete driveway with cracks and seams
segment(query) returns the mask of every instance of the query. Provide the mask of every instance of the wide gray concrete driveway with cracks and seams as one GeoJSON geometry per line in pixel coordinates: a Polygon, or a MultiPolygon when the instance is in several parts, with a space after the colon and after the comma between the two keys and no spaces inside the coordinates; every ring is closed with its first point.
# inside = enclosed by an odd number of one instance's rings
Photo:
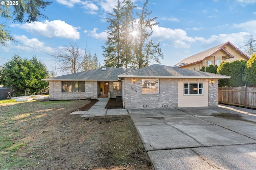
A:
{"type": "Polygon", "coordinates": [[[128,112],[156,170],[255,169],[256,110],[228,108],[128,112]]]}

